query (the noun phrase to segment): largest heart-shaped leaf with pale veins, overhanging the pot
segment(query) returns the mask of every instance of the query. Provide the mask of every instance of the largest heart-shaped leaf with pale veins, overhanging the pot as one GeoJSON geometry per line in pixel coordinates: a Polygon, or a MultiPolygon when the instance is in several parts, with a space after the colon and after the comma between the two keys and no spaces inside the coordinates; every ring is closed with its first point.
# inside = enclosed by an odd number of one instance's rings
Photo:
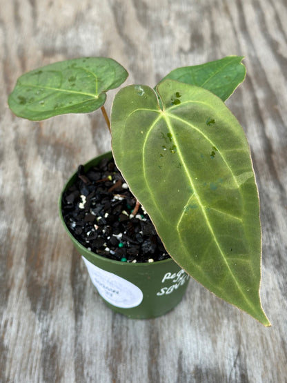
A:
{"type": "Polygon", "coordinates": [[[158,92],[164,110],[147,86],[117,93],[117,166],[175,261],[268,326],[259,297],[259,200],[244,131],[208,90],[166,80],[158,92]]]}

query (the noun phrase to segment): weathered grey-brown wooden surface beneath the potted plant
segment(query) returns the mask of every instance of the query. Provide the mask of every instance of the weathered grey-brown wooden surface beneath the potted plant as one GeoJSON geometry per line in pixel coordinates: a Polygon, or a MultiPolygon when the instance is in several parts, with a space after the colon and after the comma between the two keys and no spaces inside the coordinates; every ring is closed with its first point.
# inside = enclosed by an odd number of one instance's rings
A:
{"type": "Polygon", "coordinates": [[[286,0],[0,0],[0,9],[0,382],[287,382],[286,0]],[[155,320],[103,304],[57,213],[68,176],[110,147],[103,117],[32,123],[7,106],[23,72],[83,55],[117,59],[126,84],[150,86],[177,66],[246,57],[228,106],[257,174],[271,328],[192,280],[155,320]]]}

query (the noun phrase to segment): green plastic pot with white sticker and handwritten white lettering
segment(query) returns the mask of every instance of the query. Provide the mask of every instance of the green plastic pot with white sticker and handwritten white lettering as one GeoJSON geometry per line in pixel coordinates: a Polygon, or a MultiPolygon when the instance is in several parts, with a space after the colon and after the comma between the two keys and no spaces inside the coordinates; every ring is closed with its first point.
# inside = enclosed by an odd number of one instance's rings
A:
{"type": "MultiPolygon", "coordinates": [[[[85,170],[107,157],[112,158],[112,153],[92,159],[84,166],[85,170]]],[[[189,276],[171,258],[152,263],[119,262],[89,251],[70,233],[63,220],[61,201],[63,193],[75,182],[76,177],[77,172],[63,188],[59,213],[103,301],[112,310],[133,319],[158,317],[172,310],[184,296],[189,276]]]]}

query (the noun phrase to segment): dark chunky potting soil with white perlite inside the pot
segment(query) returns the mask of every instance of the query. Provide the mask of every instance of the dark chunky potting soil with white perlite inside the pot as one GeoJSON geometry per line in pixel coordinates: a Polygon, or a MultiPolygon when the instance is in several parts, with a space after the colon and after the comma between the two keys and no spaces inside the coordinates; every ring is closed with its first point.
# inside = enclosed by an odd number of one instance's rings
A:
{"type": "Polygon", "coordinates": [[[62,213],[72,235],[103,257],[121,262],[169,258],[143,208],[132,215],[135,205],[114,160],[103,159],[86,173],[79,166],[75,184],[63,193],[62,213]]]}

